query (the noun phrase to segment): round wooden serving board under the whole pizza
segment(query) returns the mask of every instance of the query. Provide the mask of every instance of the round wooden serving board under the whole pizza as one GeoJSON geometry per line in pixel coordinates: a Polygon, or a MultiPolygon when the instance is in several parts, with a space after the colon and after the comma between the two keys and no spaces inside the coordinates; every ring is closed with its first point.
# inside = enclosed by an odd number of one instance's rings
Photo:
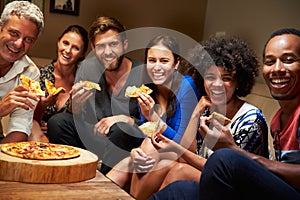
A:
{"type": "Polygon", "coordinates": [[[94,178],[97,155],[78,149],[79,157],[64,160],[30,160],[13,157],[0,151],[0,180],[26,183],[73,183],[94,178]]]}

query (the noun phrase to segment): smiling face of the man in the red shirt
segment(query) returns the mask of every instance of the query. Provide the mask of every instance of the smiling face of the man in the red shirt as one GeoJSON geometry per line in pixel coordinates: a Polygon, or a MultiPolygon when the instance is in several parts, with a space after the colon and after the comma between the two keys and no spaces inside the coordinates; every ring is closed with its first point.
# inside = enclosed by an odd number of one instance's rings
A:
{"type": "Polygon", "coordinates": [[[290,100],[300,95],[300,37],[275,36],[266,46],[263,76],[271,95],[290,100]]]}

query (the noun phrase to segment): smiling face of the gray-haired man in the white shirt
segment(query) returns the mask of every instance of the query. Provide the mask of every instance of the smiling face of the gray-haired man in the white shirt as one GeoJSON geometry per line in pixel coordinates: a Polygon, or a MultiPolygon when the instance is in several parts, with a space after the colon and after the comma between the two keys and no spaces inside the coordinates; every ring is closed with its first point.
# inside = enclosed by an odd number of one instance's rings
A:
{"type": "Polygon", "coordinates": [[[8,65],[24,56],[36,41],[38,33],[36,24],[12,15],[1,27],[0,65],[8,65]]]}

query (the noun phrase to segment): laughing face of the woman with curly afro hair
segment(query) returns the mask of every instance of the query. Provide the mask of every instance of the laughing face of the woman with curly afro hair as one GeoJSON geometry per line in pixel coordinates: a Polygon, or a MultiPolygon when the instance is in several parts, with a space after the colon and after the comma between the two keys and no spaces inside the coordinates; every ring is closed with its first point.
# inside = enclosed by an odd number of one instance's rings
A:
{"type": "Polygon", "coordinates": [[[226,105],[237,88],[235,71],[225,71],[222,67],[211,66],[204,73],[204,87],[214,105],[226,105]]]}

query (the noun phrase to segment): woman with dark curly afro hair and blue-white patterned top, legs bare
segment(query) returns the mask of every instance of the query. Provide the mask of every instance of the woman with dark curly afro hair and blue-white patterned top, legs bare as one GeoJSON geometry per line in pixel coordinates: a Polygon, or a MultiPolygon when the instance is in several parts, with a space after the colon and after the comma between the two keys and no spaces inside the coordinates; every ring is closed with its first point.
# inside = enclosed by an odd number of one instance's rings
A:
{"type": "MultiPolygon", "coordinates": [[[[132,180],[131,192],[139,199],[148,198],[177,180],[199,181],[206,159],[213,153],[210,148],[216,142],[204,140],[197,151],[199,155],[195,153],[194,141],[199,118],[207,113],[217,112],[231,119],[231,123],[224,126],[230,129],[236,144],[246,151],[268,157],[268,127],[265,118],[258,108],[240,98],[250,93],[258,75],[259,64],[255,53],[238,37],[211,37],[192,49],[187,60],[203,74],[207,96],[203,96],[197,104],[181,145],[161,135],[153,137],[152,143],[157,149],[175,152],[178,159],[172,166],[149,172],[147,178],[144,175],[143,179],[137,177],[132,180]]],[[[161,160],[160,163],[163,166],[166,161],[161,160]]],[[[175,196],[180,193],[168,192],[175,196]]]]}

